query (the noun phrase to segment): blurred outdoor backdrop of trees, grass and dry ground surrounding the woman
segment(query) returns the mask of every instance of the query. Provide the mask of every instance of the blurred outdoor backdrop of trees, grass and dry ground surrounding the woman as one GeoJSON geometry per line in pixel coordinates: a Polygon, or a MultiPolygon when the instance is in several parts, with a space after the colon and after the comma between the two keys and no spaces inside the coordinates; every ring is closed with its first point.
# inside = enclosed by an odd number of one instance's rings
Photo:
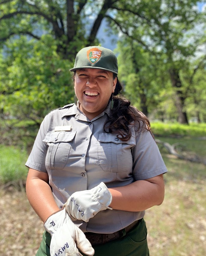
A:
{"type": "Polygon", "coordinates": [[[205,255],[206,2],[0,0],[1,255],[35,255],[24,163],[45,115],[76,101],[69,69],[92,45],[115,52],[121,95],[149,117],[168,167],[164,203],[145,216],[151,255],[205,255]]]}

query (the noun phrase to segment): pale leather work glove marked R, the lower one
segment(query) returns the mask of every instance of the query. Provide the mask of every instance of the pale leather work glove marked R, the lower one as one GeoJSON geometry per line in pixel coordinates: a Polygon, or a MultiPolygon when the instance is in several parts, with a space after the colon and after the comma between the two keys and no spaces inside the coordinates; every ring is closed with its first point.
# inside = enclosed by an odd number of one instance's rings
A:
{"type": "Polygon", "coordinates": [[[85,234],[74,225],[63,208],[48,217],[44,228],[51,234],[51,256],[82,256],[81,252],[93,256],[94,249],[85,234]]]}

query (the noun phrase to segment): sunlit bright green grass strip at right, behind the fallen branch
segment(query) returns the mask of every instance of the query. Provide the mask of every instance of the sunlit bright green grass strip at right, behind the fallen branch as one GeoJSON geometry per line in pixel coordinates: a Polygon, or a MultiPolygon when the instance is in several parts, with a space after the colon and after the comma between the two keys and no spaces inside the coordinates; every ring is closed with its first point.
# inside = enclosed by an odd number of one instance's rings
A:
{"type": "Polygon", "coordinates": [[[187,125],[187,124],[179,124],[179,123],[152,122],[151,131],[155,135],[161,135],[161,136],[180,135],[180,136],[205,137],[206,124],[191,123],[190,125],[187,125]]]}

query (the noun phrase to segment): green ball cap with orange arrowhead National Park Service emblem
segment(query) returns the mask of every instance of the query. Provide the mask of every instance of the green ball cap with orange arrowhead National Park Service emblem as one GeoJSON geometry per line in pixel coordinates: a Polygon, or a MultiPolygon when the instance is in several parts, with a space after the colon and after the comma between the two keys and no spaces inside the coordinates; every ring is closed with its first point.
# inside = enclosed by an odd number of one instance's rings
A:
{"type": "Polygon", "coordinates": [[[118,74],[117,58],[114,53],[101,46],[89,46],[81,49],[74,62],[75,71],[80,68],[98,68],[118,74]]]}

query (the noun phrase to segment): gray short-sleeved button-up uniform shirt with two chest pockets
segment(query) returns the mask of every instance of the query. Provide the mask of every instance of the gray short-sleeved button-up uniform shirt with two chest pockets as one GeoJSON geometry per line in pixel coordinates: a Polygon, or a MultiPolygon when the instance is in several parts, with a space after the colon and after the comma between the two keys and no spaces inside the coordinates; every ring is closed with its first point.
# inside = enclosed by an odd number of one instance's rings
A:
{"type": "MultiPolygon", "coordinates": [[[[44,118],[26,166],[48,173],[60,208],[75,191],[91,189],[101,181],[108,188],[120,187],[167,171],[150,132],[135,132],[132,127],[128,141],[104,132],[110,111],[108,105],[90,121],[73,103],[44,118]]],[[[144,215],[145,211],[107,209],[88,223],[77,220],[74,224],[83,232],[113,233],[144,215]]]]}

